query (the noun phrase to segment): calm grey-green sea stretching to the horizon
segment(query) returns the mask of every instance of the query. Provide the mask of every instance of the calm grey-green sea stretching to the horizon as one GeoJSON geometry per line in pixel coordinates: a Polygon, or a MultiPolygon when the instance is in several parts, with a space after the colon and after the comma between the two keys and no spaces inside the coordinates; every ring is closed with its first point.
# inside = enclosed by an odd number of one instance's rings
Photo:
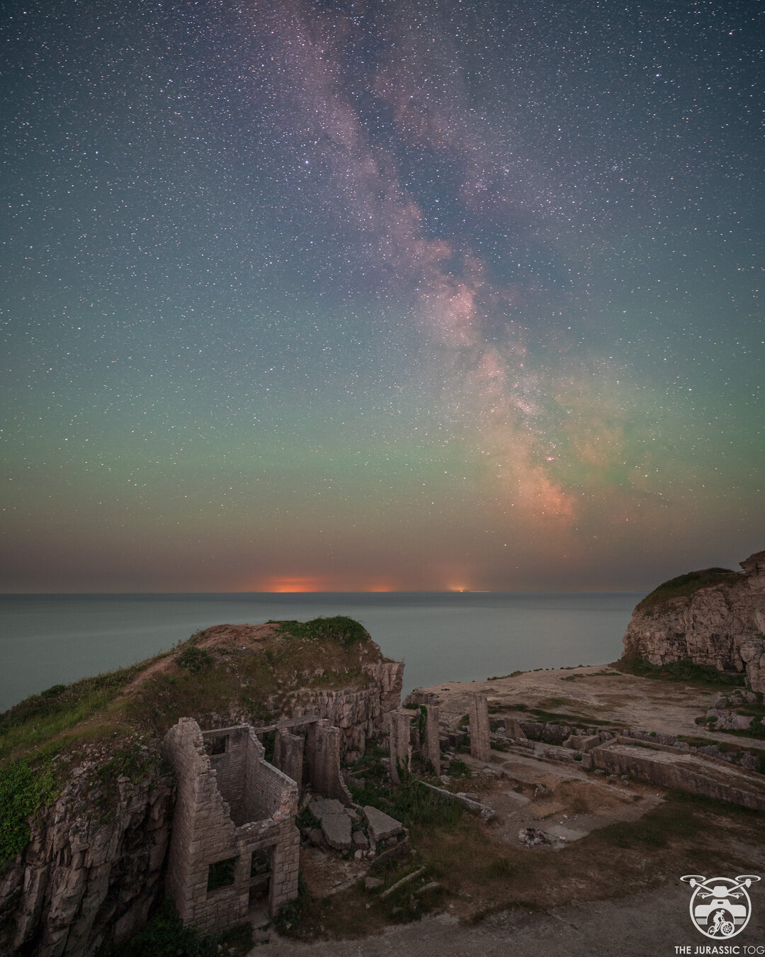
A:
{"type": "Polygon", "coordinates": [[[0,595],[0,711],[52,684],[133,664],[210,625],[347,614],[387,657],[404,694],[449,680],[601,664],[643,592],[0,595]]]}

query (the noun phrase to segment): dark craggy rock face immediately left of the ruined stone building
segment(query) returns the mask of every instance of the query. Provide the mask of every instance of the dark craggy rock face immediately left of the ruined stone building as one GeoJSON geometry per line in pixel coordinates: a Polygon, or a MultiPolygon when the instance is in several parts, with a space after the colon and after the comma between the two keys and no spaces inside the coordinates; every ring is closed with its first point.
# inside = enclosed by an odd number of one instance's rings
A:
{"type": "Polygon", "coordinates": [[[0,882],[0,953],[91,955],[146,923],[160,889],[172,782],[138,748],[130,774],[85,760],[0,882]]]}

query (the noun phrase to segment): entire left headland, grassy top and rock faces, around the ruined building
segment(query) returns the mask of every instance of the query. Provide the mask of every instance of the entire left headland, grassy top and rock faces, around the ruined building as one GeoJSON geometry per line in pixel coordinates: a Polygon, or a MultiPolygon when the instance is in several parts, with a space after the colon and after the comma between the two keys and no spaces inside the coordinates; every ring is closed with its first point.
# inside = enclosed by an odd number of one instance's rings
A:
{"type": "Polygon", "coordinates": [[[20,835],[0,854],[0,957],[92,957],[146,923],[175,801],[160,743],[180,717],[213,729],[317,714],[352,760],[401,701],[403,671],[348,618],[220,625],[15,705],[0,716],[0,834],[20,835]],[[14,790],[33,799],[23,812],[14,790]]]}

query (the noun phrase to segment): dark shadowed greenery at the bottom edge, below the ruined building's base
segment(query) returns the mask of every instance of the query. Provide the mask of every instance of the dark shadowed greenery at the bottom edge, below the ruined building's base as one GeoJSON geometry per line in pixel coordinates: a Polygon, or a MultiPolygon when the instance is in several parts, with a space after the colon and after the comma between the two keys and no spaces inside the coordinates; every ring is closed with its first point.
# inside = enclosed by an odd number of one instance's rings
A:
{"type": "Polygon", "coordinates": [[[120,947],[102,947],[98,957],[244,957],[252,948],[252,928],[242,924],[225,933],[200,937],[184,927],[165,901],[148,924],[120,947]]]}

